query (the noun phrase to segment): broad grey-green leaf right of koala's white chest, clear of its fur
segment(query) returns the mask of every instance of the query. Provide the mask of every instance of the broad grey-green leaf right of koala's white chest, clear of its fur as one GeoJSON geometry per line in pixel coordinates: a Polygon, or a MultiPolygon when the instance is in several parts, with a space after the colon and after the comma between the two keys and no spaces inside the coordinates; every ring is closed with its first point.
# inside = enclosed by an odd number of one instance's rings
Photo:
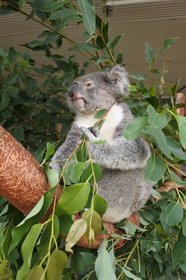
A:
{"type": "Polygon", "coordinates": [[[167,125],[167,123],[169,121],[164,112],[158,113],[152,105],[148,106],[147,113],[149,115],[148,122],[154,128],[162,129],[167,125]]]}

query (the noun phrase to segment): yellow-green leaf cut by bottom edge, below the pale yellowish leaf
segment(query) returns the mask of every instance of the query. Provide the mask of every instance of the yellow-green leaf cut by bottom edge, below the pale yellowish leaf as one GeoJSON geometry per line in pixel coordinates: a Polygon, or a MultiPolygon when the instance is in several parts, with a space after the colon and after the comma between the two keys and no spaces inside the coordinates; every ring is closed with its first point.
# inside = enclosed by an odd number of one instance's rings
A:
{"type": "Polygon", "coordinates": [[[61,280],[62,273],[68,262],[67,255],[58,249],[52,252],[47,267],[47,279],[61,280]]]}

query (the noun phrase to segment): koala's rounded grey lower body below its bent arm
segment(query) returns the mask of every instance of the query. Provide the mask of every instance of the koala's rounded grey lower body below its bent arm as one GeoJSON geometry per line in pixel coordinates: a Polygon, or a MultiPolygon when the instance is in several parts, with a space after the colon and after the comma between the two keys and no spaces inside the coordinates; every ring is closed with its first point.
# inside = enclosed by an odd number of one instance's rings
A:
{"type": "Polygon", "coordinates": [[[143,179],[143,171],[103,169],[98,192],[108,202],[104,221],[117,223],[143,207],[153,186],[143,179]]]}

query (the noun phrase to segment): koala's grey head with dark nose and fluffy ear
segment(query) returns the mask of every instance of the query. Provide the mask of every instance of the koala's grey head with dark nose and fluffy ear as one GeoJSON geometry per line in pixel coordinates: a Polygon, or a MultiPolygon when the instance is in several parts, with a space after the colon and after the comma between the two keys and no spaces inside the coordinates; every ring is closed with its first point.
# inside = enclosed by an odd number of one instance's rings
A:
{"type": "Polygon", "coordinates": [[[109,109],[118,97],[127,96],[129,81],[124,68],[113,67],[109,72],[95,72],[76,79],[67,92],[69,108],[76,114],[93,114],[109,109]]]}

